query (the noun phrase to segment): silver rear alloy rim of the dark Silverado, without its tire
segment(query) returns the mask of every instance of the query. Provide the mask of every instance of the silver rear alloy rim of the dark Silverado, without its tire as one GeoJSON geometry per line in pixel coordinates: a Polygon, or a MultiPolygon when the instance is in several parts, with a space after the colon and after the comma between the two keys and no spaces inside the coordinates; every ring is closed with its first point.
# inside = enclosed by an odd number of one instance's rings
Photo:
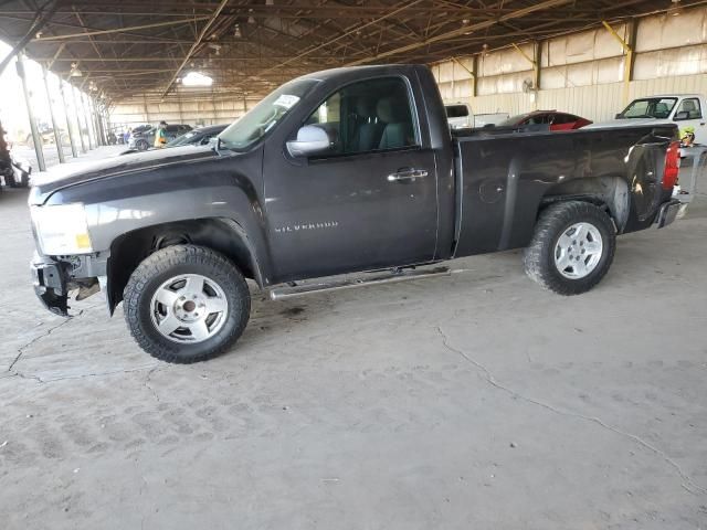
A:
{"type": "Polygon", "coordinates": [[[555,266],[566,278],[584,278],[599,265],[603,250],[597,226],[590,223],[572,224],[555,245],[555,266]]]}

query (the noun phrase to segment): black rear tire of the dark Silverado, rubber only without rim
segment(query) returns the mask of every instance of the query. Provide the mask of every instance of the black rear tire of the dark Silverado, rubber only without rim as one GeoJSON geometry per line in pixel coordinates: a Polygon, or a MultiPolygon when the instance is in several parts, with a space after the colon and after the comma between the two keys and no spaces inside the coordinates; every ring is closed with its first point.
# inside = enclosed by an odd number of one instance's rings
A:
{"type": "Polygon", "coordinates": [[[564,296],[579,295],[601,282],[611,267],[615,250],[616,231],[606,212],[587,202],[569,201],[542,211],[532,241],[524,251],[523,262],[526,274],[544,288],[564,296]],[[569,278],[560,272],[555,257],[560,236],[577,223],[588,223],[599,231],[602,250],[601,257],[588,275],[569,278]]]}

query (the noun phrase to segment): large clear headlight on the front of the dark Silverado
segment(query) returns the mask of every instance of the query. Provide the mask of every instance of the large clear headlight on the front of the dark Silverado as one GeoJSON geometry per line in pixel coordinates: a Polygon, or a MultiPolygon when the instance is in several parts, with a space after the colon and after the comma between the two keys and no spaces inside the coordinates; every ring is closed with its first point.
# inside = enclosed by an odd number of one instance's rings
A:
{"type": "Polygon", "coordinates": [[[93,252],[83,204],[33,206],[32,221],[42,254],[89,254],[93,252]]]}

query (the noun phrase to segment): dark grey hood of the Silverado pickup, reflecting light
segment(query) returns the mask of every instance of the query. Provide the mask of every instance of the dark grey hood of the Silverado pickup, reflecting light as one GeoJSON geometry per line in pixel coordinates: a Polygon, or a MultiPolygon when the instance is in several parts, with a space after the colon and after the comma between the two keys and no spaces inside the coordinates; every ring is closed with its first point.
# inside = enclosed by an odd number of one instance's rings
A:
{"type": "Polygon", "coordinates": [[[115,178],[136,171],[149,171],[172,163],[212,159],[218,156],[210,147],[184,146],[123,155],[99,161],[56,166],[46,174],[32,176],[33,188],[29,202],[30,204],[43,204],[52,193],[70,186],[115,178]]]}

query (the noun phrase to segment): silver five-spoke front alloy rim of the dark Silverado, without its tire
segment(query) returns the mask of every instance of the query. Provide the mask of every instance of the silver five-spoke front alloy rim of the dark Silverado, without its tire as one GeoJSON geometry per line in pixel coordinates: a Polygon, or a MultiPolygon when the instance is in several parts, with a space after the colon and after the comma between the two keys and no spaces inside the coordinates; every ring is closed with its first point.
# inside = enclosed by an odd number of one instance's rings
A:
{"type": "Polygon", "coordinates": [[[229,316],[221,286],[199,274],[175,276],[152,295],[152,324],[175,342],[203,342],[219,332],[229,316]]]}

